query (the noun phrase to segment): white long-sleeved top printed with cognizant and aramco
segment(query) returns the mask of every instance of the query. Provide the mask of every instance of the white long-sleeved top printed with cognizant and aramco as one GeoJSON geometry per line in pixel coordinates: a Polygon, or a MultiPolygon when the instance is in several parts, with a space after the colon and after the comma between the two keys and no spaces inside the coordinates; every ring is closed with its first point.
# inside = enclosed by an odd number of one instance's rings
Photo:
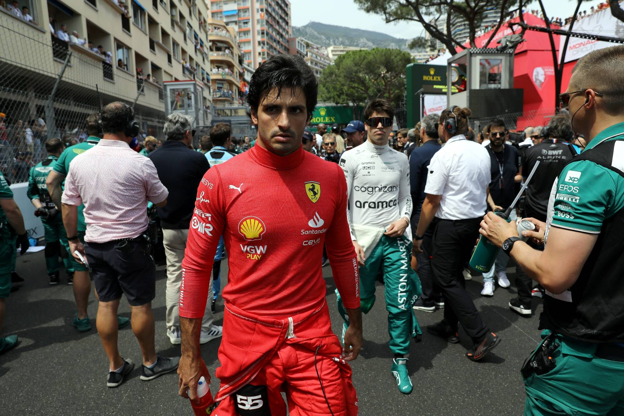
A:
{"type": "MultiPolygon", "coordinates": [[[[366,141],[344,152],[339,165],[346,177],[350,224],[384,228],[401,217],[411,217],[407,156],[388,144],[366,141]]],[[[354,234],[351,229],[353,240],[354,234]]],[[[409,226],[405,235],[411,239],[409,226]]]]}

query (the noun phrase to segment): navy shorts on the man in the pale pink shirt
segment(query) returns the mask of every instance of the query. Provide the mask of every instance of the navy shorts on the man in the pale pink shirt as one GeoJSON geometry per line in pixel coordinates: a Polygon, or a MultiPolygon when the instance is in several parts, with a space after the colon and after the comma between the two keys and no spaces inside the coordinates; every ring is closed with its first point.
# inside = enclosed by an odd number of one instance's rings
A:
{"type": "Polygon", "coordinates": [[[132,306],[154,300],[156,265],[152,256],[142,250],[141,242],[87,242],[84,251],[101,302],[120,299],[122,294],[132,306]]]}

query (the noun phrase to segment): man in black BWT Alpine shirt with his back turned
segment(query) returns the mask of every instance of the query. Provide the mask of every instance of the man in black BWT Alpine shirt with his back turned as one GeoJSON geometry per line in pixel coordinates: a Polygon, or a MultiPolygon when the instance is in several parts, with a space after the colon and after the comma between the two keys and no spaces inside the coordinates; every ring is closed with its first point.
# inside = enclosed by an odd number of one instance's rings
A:
{"type": "MultiPolygon", "coordinates": [[[[522,217],[532,217],[545,221],[548,211],[548,199],[552,191],[552,184],[563,171],[563,167],[572,160],[572,153],[565,141],[572,136],[572,125],[567,116],[558,115],[552,117],[548,126],[540,131],[546,138],[540,138],[539,142],[526,149],[522,162],[522,177],[529,176],[536,162],[540,162],[535,171],[532,181],[527,186],[522,217]]],[[[543,245],[534,245],[535,249],[544,249],[543,245]]],[[[532,297],[542,297],[544,289],[537,285],[533,287],[531,277],[522,268],[517,267],[515,273],[515,285],[518,295],[509,301],[510,309],[520,315],[530,315],[532,312],[532,297]]]]}

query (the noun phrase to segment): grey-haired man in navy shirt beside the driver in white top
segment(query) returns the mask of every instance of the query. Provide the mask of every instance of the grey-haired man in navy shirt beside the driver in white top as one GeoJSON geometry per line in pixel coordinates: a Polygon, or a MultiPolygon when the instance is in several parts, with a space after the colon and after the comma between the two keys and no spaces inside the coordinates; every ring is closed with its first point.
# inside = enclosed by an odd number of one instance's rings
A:
{"type": "MultiPolygon", "coordinates": [[[[412,212],[412,238],[416,245],[416,229],[421,217],[422,202],[425,200],[425,185],[427,184],[427,174],[429,173],[429,162],[442,146],[437,142],[437,123],[440,114],[429,114],[421,120],[421,131],[419,132],[422,146],[416,147],[409,157],[409,183],[411,186],[412,201],[414,202],[414,212],[412,212]]],[[[422,253],[412,250],[412,268],[417,270],[421,278],[422,296],[412,307],[415,310],[424,312],[434,312],[436,307],[444,307],[442,292],[434,283],[431,272],[429,256],[431,255],[431,243],[435,224],[431,224],[422,239],[422,253]]]]}

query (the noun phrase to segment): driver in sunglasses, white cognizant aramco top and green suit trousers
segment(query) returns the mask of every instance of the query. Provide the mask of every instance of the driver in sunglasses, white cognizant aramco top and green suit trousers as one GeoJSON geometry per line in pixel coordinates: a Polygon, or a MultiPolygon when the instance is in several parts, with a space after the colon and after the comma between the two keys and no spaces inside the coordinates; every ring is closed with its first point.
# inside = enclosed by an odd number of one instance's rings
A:
{"type": "MultiPolygon", "coordinates": [[[[412,198],[407,156],[388,146],[394,110],[388,101],[374,99],[364,109],[368,140],[343,153],[340,166],[347,181],[351,239],[358,254],[361,309],[375,302],[375,280],[383,274],[391,374],[399,391],[412,392],[407,372],[409,340],[420,333],[412,304],[421,294],[416,272],[410,267],[412,198]]],[[[338,297],[338,310],[348,329],[349,319],[338,297]]]]}

